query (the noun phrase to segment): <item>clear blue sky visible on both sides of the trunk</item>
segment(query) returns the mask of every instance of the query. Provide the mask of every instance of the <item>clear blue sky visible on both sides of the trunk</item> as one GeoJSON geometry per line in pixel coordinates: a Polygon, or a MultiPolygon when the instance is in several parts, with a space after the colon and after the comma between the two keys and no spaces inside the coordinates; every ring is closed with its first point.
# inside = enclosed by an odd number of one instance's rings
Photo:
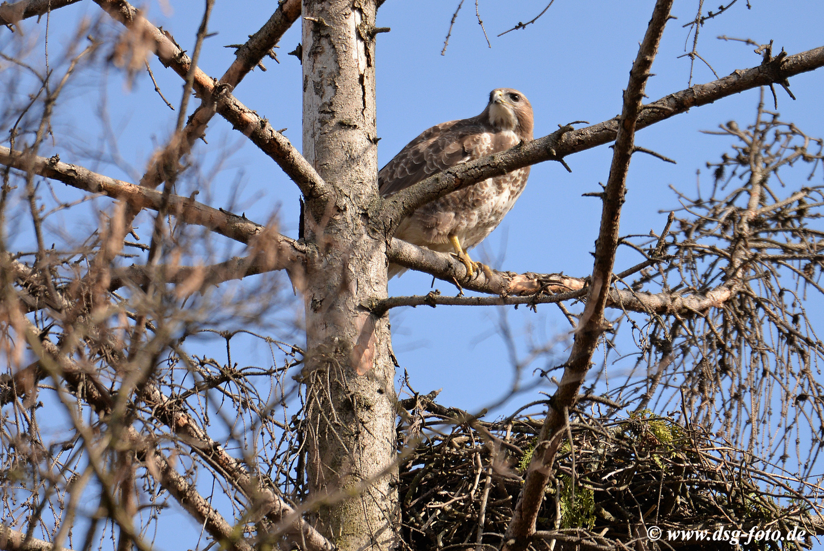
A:
{"type": "MultiPolygon", "coordinates": [[[[382,166],[425,128],[445,120],[461,119],[484,109],[489,91],[508,86],[522,91],[535,110],[536,137],[551,133],[559,124],[573,120],[597,123],[620,112],[621,91],[639,40],[644,35],[653,2],[606,2],[604,0],[557,0],[539,21],[527,30],[496,37],[518,21],[528,21],[545,6],[544,0],[493,2],[480,0],[480,16],[485,22],[492,47],[486,44],[475,18],[475,2],[467,0],[452,30],[446,55],[441,55],[443,40],[457,0],[387,0],[378,14],[378,25],[391,32],[377,38],[377,117],[382,166]]],[[[695,16],[695,1],[676,2],[674,15],[664,35],[653,66],[656,77],[649,82],[651,100],[687,87],[690,61],[678,58],[685,53],[687,30],[681,25],[695,16]]],[[[166,4],[166,2],[162,2],[166,4]]],[[[226,2],[218,0],[210,30],[219,35],[204,45],[200,67],[219,77],[232,62],[232,50],[224,44],[241,43],[274,10],[275,2],[226,2]]],[[[739,0],[729,12],[707,21],[701,28],[699,52],[718,72],[727,75],[736,68],[749,68],[761,62],[752,47],[739,42],[717,40],[718,35],[750,38],[758,43],[775,42],[775,51],[790,54],[824,44],[822,21],[824,2],[747,3],[739,0]]],[[[203,2],[171,2],[171,11],[158,2],[147,4],[148,18],[170,30],[184,49],[191,50],[194,31],[199,25],[203,2]]],[[[82,14],[98,16],[91,2],[61,9],[52,16],[52,25],[69,28],[82,14]]],[[[27,21],[24,28],[31,36],[44,31],[44,21],[27,21]]],[[[6,32],[6,31],[3,31],[6,32]]],[[[268,117],[274,128],[285,132],[293,143],[301,144],[301,68],[297,59],[286,55],[300,40],[297,28],[281,42],[280,64],[267,59],[268,72],[255,71],[235,95],[259,114],[268,117]]],[[[691,45],[691,39],[689,44],[691,45]]],[[[690,45],[687,47],[689,48],[690,45]]],[[[172,103],[180,101],[180,79],[152,60],[152,68],[163,91],[172,103]]],[[[83,77],[74,91],[71,109],[59,111],[55,124],[63,135],[80,134],[90,147],[96,144],[99,128],[95,112],[100,105],[96,77],[83,77]]],[[[714,80],[704,63],[695,63],[693,82],[714,80]]],[[[121,74],[109,77],[109,89],[119,94],[124,86],[121,74]]],[[[798,100],[781,91],[779,111],[812,136],[824,136],[824,70],[791,81],[798,100]]],[[[635,156],[630,168],[629,194],[621,222],[622,234],[660,231],[665,214],[660,209],[677,206],[668,189],[695,189],[695,171],[704,170],[706,161],[715,161],[728,150],[730,140],[699,133],[716,128],[730,119],[748,124],[755,116],[758,91],[720,100],[714,105],[692,110],[655,125],[638,134],[636,142],[677,161],[670,165],[649,156],[635,156]]],[[[111,119],[121,139],[120,154],[133,170],[124,166],[91,166],[125,180],[134,180],[145,166],[154,143],[162,142],[173,127],[175,114],[163,107],[145,75],[138,77],[133,90],[109,105],[111,119]],[[147,114],[152,114],[147,116],[147,114]]],[[[207,163],[218,158],[222,144],[232,143],[236,152],[227,168],[215,175],[208,198],[214,207],[227,207],[236,200],[236,212],[265,222],[278,211],[282,229],[297,236],[297,188],[283,172],[222,119],[214,119],[208,134],[209,145],[200,145],[207,163]],[[235,186],[242,173],[240,189],[235,186]]],[[[65,152],[66,142],[55,151],[65,152]]],[[[529,184],[515,208],[502,225],[486,240],[490,256],[503,255],[499,268],[516,272],[564,272],[586,276],[592,268],[593,241],[597,236],[600,203],[581,194],[599,190],[605,182],[611,150],[606,146],[570,156],[568,174],[557,163],[544,163],[532,169],[529,184]]],[[[63,155],[64,161],[69,157],[63,155]]],[[[789,178],[804,175],[787,173],[789,178]]],[[[709,174],[707,174],[709,176],[709,174]]],[[[709,183],[709,177],[706,180],[709,183]]],[[[236,248],[236,253],[240,252],[236,248]]],[[[478,254],[475,254],[478,255],[478,254]]],[[[639,261],[637,254],[621,250],[617,269],[639,261]]],[[[406,273],[390,283],[391,294],[424,294],[431,277],[406,273]]],[[[454,288],[436,282],[436,288],[449,294],[454,288]]],[[[410,373],[416,390],[428,392],[442,388],[443,404],[478,409],[493,402],[508,388],[512,369],[508,350],[494,332],[500,311],[438,307],[405,309],[391,314],[393,344],[402,367],[410,373]]],[[[560,338],[569,330],[555,306],[539,306],[538,313],[521,308],[508,309],[521,353],[526,349],[527,329],[534,339],[560,338]]],[[[557,351],[565,357],[563,344],[557,351]]],[[[251,362],[251,360],[249,361],[251,362]]],[[[537,365],[536,367],[543,367],[537,365]]],[[[529,398],[531,399],[531,398],[529,398]]],[[[527,401],[527,399],[523,399],[527,401]]],[[[502,413],[502,412],[501,412],[502,413]]],[[[180,527],[184,530],[184,527],[180,527]]],[[[171,543],[161,548],[176,549],[171,543]]]]}

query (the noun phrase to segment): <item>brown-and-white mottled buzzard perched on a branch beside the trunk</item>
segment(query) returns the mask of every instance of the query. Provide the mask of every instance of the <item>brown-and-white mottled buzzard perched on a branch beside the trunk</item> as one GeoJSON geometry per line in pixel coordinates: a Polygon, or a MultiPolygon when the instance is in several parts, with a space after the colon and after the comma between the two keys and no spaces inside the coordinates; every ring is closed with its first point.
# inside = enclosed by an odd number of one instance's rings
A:
{"type": "MultiPolygon", "coordinates": [[[[377,174],[383,197],[462,162],[502,152],[532,139],[532,106],[521,92],[496,88],[489,92],[483,113],[471,119],[451,120],[414,138],[377,174]]],[[[493,231],[527,185],[529,167],[482,180],[418,208],[406,217],[395,236],[413,245],[440,252],[454,251],[473,277],[488,269],[466,252],[493,231]]],[[[404,272],[390,264],[389,277],[404,272]]]]}

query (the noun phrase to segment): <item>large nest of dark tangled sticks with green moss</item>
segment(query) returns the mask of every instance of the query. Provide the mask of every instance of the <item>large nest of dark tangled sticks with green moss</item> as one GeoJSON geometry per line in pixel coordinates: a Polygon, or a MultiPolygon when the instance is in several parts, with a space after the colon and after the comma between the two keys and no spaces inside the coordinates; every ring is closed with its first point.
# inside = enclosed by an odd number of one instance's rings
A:
{"type": "MultiPolygon", "coordinates": [[[[489,423],[433,403],[401,402],[400,502],[406,549],[499,549],[522,488],[543,415],[489,423]]],[[[746,451],[648,411],[592,418],[578,410],[555,460],[533,549],[705,549],[707,542],[653,544],[647,528],[724,530],[800,526],[822,533],[822,490],[759,469],[746,451]],[[569,434],[569,432],[568,432],[569,434]]],[[[801,549],[761,539],[742,549],[801,549]],[[779,545],[781,544],[781,545],[779,545]]],[[[717,544],[717,542],[709,542],[717,544]]],[[[729,545],[728,541],[721,543],[729,545]]],[[[734,549],[734,545],[731,549],[734,549]]],[[[741,549],[741,548],[739,548],[741,549]]]]}

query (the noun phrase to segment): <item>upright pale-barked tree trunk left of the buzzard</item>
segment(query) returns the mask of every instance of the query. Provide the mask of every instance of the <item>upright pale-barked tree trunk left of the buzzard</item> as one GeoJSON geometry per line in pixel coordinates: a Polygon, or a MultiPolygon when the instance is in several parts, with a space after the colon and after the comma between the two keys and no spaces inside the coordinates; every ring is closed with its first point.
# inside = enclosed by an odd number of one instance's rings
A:
{"type": "Polygon", "coordinates": [[[334,189],[307,197],[307,472],[329,496],[318,528],[339,549],[393,549],[395,368],[386,297],[386,236],[377,231],[372,30],[375,0],[303,0],[303,155],[334,189]],[[335,493],[346,491],[346,497],[335,493]]]}

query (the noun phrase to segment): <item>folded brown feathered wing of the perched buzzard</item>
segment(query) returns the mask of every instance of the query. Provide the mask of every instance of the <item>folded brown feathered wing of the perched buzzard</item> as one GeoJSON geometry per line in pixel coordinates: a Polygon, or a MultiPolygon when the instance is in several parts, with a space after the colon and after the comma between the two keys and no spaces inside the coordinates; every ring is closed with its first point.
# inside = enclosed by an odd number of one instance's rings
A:
{"type": "Polygon", "coordinates": [[[491,152],[494,136],[476,119],[451,120],[424,130],[377,174],[383,197],[461,162],[491,152]]]}

